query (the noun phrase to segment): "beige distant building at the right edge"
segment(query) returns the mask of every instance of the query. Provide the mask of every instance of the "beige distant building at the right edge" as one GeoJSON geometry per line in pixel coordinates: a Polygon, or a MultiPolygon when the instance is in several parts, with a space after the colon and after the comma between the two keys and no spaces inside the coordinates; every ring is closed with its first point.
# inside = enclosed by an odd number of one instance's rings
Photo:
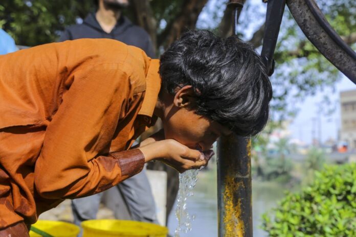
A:
{"type": "Polygon", "coordinates": [[[356,90],[342,91],[340,140],[347,144],[348,150],[356,150],[356,90]]]}

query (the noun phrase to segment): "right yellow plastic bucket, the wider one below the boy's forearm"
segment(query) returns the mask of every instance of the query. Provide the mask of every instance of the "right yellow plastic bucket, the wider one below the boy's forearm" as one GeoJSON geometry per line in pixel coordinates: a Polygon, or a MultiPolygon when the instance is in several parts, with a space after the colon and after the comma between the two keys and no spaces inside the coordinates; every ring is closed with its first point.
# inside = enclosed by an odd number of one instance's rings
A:
{"type": "Polygon", "coordinates": [[[166,227],[138,221],[89,220],[81,223],[83,237],[166,237],[166,227]]]}

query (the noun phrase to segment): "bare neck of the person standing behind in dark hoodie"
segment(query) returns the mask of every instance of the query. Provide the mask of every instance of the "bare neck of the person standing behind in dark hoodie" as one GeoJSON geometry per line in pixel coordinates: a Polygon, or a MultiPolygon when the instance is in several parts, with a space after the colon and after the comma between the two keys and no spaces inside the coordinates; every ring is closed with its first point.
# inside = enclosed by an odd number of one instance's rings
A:
{"type": "Polygon", "coordinates": [[[109,9],[101,1],[100,1],[99,9],[95,14],[95,17],[99,22],[99,25],[106,33],[112,32],[120,16],[121,16],[121,11],[109,9]]]}

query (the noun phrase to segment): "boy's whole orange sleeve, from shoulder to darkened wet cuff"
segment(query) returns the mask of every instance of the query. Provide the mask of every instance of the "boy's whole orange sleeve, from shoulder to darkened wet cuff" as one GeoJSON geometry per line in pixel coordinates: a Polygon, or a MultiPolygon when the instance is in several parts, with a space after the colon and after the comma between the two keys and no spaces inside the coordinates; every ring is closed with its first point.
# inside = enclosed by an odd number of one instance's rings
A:
{"type": "Polygon", "coordinates": [[[78,198],[104,191],[139,173],[140,150],[105,154],[128,108],[132,88],[124,63],[86,65],[50,122],[35,164],[35,186],[44,198],[78,198]]]}

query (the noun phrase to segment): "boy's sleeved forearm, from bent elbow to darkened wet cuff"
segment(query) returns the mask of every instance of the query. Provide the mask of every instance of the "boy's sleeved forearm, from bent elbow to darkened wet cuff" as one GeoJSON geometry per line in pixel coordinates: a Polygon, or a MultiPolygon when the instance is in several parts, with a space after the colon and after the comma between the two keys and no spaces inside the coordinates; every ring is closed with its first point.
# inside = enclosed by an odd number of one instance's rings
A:
{"type": "Polygon", "coordinates": [[[105,191],[119,182],[141,172],[144,156],[139,149],[98,156],[71,171],[35,170],[37,192],[44,198],[80,198],[105,191]]]}

